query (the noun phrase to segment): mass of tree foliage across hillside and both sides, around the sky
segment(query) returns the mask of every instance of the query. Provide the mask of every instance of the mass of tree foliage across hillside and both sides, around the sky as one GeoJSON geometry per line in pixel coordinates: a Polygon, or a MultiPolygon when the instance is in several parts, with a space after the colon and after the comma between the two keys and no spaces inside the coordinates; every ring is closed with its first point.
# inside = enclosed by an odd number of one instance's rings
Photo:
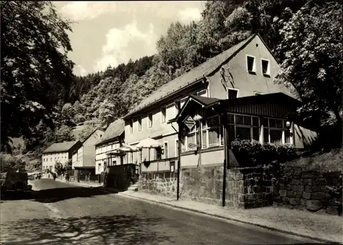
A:
{"type": "MultiPolygon", "coordinates": [[[[45,20],[47,16],[48,28],[52,28],[49,23],[56,23],[54,27],[65,30],[69,29],[69,23],[61,21],[53,9],[50,15],[42,14],[42,6],[50,5],[45,2],[1,3],[1,18],[4,19],[3,23],[8,24],[1,30],[5,32],[5,39],[1,40],[1,44],[5,44],[5,48],[1,49],[1,64],[5,62],[5,68],[1,68],[1,84],[4,84],[1,92],[7,98],[4,107],[12,109],[10,112],[5,110],[4,114],[1,109],[1,139],[12,133],[11,127],[22,129],[27,125],[24,129],[29,129],[31,133],[31,137],[26,140],[27,151],[38,153],[52,142],[71,140],[71,131],[78,124],[87,125],[82,133],[83,138],[97,127],[106,127],[108,123],[128,113],[158,87],[255,32],[259,32],[281,64],[282,70],[276,82],[292,83],[299,91],[305,102],[300,108],[301,115],[311,118],[312,122],[320,121],[327,114],[333,114],[339,119],[338,114],[342,109],[342,5],[337,1],[207,1],[200,21],[188,25],[176,22],[168,27],[165,36],[161,36],[156,43],[156,55],[142,57],[134,62],[130,60],[115,68],[109,66],[104,71],[84,77],[73,77],[71,82],[71,62],[64,54],[56,53],[58,47],[71,50],[65,32],[60,31],[60,35],[56,36],[54,32],[51,32],[52,36],[35,32],[36,26],[39,26],[36,23],[45,20]],[[29,13],[27,9],[30,6],[32,11],[29,13]],[[19,25],[20,18],[14,18],[16,14],[27,18],[29,34],[24,35],[27,29],[19,25]],[[47,42],[44,38],[52,39],[47,51],[44,50],[49,53],[30,49],[33,41],[29,38],[33,35],[38,36],[37,40],[41,41],[39,44],[45,47],[47,42]],[[18,45],[14,43],[20,44],[21,49],[16,48],[18,45]],[[10,53],[12,56],[8,56],[10,53]],[[51,53],[53,55],[50,57],[51,53]],[[30,68],[30,62],[40,62],[42,55],[48,55],[49,66],[44,64],[38,71],[30,68]],[[25,69],[19,67],[24,58],[25,69]],[[25,75],[28,80],[21,79],[23,76],[8,75],[13,74],[10,72],[16,66],[21,69],[19,74],[25,75]],[[51,73],[51,69],[54,73],[51,73]],[[64,79],[51,77],[50,74],[63,75],[64,79]],[[61,89],[56,89],[56,86],[61,89]],[[44,94],[41,90],[45,91],[44,94]],[[51,93],[46,92],[50,90],[51,93]],[[24,93],[22,97],[19,97],[19,91],[24,93]],[[62,93],[65,98],[60,98],[53,91],[66,91],[62,93]],[[39,95],[38,101],[36,97],[27,95],[32,92],[39,95]],[[33,103],[36,108],[43,105],[42,109],[34,112],[25,109],[29,101],[36,101],[37,104],[33,103]],[[32,119],[23,122],[15,120],[11,127],[10,122],[3,119],[19,116],[30,116],[32,119]],[[41,120],[48,116],[54,118],[55,129],[49,129],[47,123],[41,120]],[[6,132],[4,135],[3,130],[6,132]]],[[[38,43],[35,41],[33,44],[38,43]]],[[[19,130],[16,133],[29,136],[25,131],[19,130]]]]}

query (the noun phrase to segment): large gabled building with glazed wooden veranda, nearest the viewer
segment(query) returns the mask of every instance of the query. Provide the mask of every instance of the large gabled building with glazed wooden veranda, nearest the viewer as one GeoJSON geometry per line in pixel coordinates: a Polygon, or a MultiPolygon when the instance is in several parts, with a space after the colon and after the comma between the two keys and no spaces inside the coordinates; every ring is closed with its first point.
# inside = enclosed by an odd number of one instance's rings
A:
{"type": "MultiPolygon", "coordinates": [[[[185,116],[191,116],[189,123],[193,126],[185,129],[185,137],[181,139],[181,155],[185,156],[181,166],[198,164],[199,161],[202,164],[222,164],[223,120],[221,122],[219,112],[215,112],[218,108],[212,105],[223,100],[238,99],[239,102],[229,103],[234,108],[228,115],[231,140],[239,137],[261,142],[290,143],[303,148],[316,133],[303,129],[293,121],[292,125],[287,126],[286,122],[291,120],[289,116],[294,114],[298,94],[273,82],[279,70],[276,58],[261,37],[255,34],[169,81],[123,117],[127,144],[135,145],[147,137],[163,144],[162,151],[143,149],[138,153],[128,153],[128,163],[140,164],[150,157],[150,166],[141,164],[143,172],[173,171],[178,160],[180,140],[178,120],[182,116],[182,120],[187,120],[185,116]],[[268,97],[272,100],[268,101],[267,98],[264,106],[258,108],[248,102],[253,99],[242,101],[244,97],[261,96],[260,103],[265,101],[266,94],[274,94],[268,97]],[[284,102],[281,101],[283,99],[284,102]],[[248,107],[244,107],[244,103],[248,107]],[[275,106],[269,106],[271,103],[275,106]],[[208,105],[212,106],[211,109],[204,110],[208,105]],[[183,109],[187,115],[180,114],[183,109]],[[204,154],[200,159],[199,152],[211,154],[204,154]],[[195,154],[196,157],[190,157],[195,154]]],[[[224,106],[229,107],[225,103],[224,106]]]]}

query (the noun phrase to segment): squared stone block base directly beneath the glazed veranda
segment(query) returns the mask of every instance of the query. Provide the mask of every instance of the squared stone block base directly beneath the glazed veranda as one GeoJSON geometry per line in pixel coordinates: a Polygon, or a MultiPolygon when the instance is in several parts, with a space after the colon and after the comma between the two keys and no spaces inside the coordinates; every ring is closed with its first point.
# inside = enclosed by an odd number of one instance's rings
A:
{"type": "MultiPolygon", "coordinates": [[[[222,166],[182,169],[181,198],[222,205],[222,166]]],[[[262,168],[226,170],[225,207],[252,208],[272,204],[272,181],[262,168]]]]}

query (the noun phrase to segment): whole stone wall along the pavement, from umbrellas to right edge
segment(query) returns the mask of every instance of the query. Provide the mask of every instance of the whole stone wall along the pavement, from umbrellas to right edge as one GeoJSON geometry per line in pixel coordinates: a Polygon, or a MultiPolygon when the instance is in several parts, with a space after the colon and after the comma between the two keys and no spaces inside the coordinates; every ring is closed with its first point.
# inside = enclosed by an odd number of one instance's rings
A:
{"type": "MultiPolygon", "coordinates": [[[[182,168],[180,198],[222,205],[223,170],[223,166],[182,168]]],[[[275,172],[261,167],[226,170],[225,206],[248,209],[274,205],[340,214],[342,205],[336,201],[342,203],[342,194],[333,197],[327,186],[342,183],[342,173],[283,171],[276,177],[275,172]]],[[[176,198],[177,172],[143,173],[139,183],[139,191],[176,198]]]]}

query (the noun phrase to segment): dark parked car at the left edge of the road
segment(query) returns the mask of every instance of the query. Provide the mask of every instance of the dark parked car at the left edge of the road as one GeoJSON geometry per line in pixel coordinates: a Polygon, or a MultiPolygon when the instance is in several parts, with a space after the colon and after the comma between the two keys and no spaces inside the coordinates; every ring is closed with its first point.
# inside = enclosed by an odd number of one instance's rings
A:
{"type": "Polygon", "coordinates": [[[27,172],[7,172],[1,183],[1,194],[31,194],[32,185],[28,184],[27,172]]]}

